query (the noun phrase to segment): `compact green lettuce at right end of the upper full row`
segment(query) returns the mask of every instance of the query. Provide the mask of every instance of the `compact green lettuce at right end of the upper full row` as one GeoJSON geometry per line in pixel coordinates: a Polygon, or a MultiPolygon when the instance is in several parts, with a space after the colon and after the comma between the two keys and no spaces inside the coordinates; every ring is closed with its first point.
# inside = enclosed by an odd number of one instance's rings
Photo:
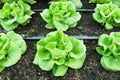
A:
{"type": "Polygon", "coordinates": [[[112,3],[97,4],[93,18],[107,30],[112,29],[120,26],[120,8],[112,3]]]}

